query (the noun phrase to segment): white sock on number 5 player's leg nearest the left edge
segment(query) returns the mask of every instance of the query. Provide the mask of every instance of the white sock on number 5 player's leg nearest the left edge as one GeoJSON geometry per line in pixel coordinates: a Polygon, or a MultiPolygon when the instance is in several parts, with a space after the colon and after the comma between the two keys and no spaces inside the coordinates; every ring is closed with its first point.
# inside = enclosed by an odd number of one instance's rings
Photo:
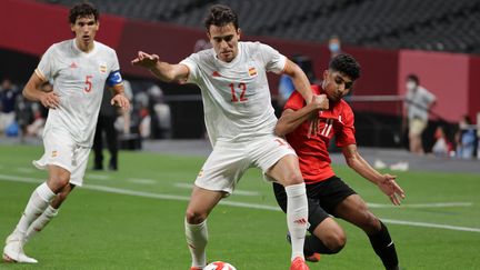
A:
{"type": "Polygon", "coordinates": [[[37,187],[30,196],[30,200],[23,210],[14,233],[19,233],[23,237],[30,224],[43,213],[54,196],[56,193],[53,193],[46,182],[37,187]]]}

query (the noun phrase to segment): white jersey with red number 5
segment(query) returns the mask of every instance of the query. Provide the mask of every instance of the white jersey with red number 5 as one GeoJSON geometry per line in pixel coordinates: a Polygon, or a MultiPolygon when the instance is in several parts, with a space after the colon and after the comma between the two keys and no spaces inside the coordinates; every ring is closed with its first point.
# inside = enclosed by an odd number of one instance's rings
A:
{"type": "Polygon", "coordinates": [[[78,49],[74,39],[52,44],[36,69],[60,96],[59,108],[49,110],[44,130],[64,129],[79,146],[91,147],[106,80],[119,69],[114,50],[100,42],[94,41],[88,53],[78,49]]]}

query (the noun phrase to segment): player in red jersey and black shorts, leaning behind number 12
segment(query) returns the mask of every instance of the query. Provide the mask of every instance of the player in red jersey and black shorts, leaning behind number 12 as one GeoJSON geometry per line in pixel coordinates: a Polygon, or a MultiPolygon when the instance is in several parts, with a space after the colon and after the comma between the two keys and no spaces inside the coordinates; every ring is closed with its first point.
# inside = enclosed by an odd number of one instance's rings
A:
{"type": "MultiPolygon", "coordinates": [[[[320,253],[337,253],[346,244],[346,233],[332,214],[362,229],[386,269],[398,269],[397,251],[387,227],[368,209],[360,196],[334,174],[330,166],[328,146],[330,139],[336,137],[337,147],[341,148],[350,168],[374,183],[393,204],[400,204],[400,199],[404,198],[403,190],[396,182],[397,177],[378,172],[357,150],[353,112],[342,98],[359,77],[360,66],[356,59],[349,54],[334,57],[323,72],[321,86],[312,86],[314,94],[327,96],[329,109],[306,106],[302,97],[294,92],[284,106],[276,133],[284,136],[296,150],[307,183],[311,236],[306,238],[306,258],[318,261],[320,253]],[[316,124],[307,121],[312,118],[318,118],[313,121],[316,124]]],[[[273,183],[273,190],[278,203],[286,211],[284,188],[273,183]]]]}

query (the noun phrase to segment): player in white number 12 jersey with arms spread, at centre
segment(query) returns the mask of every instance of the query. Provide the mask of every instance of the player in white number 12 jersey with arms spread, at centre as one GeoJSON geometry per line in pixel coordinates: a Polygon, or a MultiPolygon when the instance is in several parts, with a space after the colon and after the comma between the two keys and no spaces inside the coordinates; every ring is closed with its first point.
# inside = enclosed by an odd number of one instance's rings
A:
{"type": "Polygon", "coordinates": [[[294,151],[273,133],[277,118],[270,103],[267,72],[290,76],[306,101],[314,102],[319,109],[327,109],[328,101],[324,96],[314,97],[303,71],[277,50],[260,42],[239,42],[237,14],[229,7],[212,6],[206,28],[212,49],[193,53],[178,64],[141,51],[132,61],[162,81],[187,81],[201,89],[213,151],[197,177],[186,213],[191,269],[202,269],[207,263],[208,214],[232,193],[251,167],[260,168],[268,179],[286,187],[287,223],[294,239],[290,269],[309,269],[302,252],[308,218],[306,188],[294,151]]]}

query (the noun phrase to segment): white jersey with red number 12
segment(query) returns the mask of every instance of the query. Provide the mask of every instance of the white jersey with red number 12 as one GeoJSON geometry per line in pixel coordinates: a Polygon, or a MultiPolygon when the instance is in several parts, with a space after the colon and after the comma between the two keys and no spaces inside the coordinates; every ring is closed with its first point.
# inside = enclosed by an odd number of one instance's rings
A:
{"type": "Polygon", "coordinates": [[[204,120],[212,146],[272,134],[277,118],[271,106],[267,71],[280,73],[287,58],[260,42],[239,42],[238,54],[223,62],[213,49],[182,60],[188,82],[200,87],[204,120]]]}

